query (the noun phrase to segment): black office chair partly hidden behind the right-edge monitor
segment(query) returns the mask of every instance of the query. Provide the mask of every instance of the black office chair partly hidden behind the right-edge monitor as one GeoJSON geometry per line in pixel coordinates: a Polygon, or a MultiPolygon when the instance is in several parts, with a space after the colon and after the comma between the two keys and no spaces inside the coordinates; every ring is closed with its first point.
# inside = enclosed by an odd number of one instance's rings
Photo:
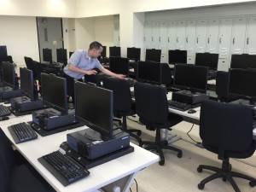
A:
{"type": "Polygon", "coordinates": [[[216,76],[216,94],[219,102],[233,102],[239,99],[238,96],[230,96],[229,90],[229,73],[218,71],[216,76]]]}

